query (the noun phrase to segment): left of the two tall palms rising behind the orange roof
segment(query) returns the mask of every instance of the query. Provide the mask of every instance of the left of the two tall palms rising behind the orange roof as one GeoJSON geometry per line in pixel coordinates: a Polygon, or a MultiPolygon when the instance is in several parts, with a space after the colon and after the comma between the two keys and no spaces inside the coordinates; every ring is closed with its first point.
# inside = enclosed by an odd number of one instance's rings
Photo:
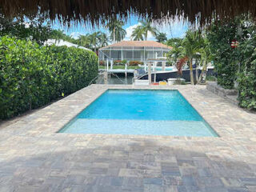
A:
{"type": "Polygon", "coordinates": [[[120,42],[126,37],[126,30],[122,28],[125,23],[117,19],[113,19],[106,24],[108,30],[110,30],[110,38],[113,42],[120,42]]]}

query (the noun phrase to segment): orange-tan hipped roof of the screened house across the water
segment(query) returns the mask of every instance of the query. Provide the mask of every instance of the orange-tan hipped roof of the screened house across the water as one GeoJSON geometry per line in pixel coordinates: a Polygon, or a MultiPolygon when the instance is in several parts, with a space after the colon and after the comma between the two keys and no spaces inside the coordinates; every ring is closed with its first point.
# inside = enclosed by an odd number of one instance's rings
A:
{"type": "Polygon", "coordinates": [[[122,41],[122,42],[116,42],[110,46],[104,46],[101,49],[106,49],[106,48],[112,48],[112,47],[158,47],[158,48],[166,48],[166,49],[172,49],[173,47],[171,46],[166,46],[162,44],[161,42],[154,42],[154,41],[122,41]]]}

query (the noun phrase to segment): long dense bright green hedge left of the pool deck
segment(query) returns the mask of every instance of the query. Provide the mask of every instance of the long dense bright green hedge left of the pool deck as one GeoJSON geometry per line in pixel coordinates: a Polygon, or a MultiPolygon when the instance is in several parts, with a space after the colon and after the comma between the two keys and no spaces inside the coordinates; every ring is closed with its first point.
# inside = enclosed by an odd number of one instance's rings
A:
{"type": "Polygon", "coordinates": [[[98,74],[94,52],[0,38],[0,119],[46,105],[98,74]]]}

